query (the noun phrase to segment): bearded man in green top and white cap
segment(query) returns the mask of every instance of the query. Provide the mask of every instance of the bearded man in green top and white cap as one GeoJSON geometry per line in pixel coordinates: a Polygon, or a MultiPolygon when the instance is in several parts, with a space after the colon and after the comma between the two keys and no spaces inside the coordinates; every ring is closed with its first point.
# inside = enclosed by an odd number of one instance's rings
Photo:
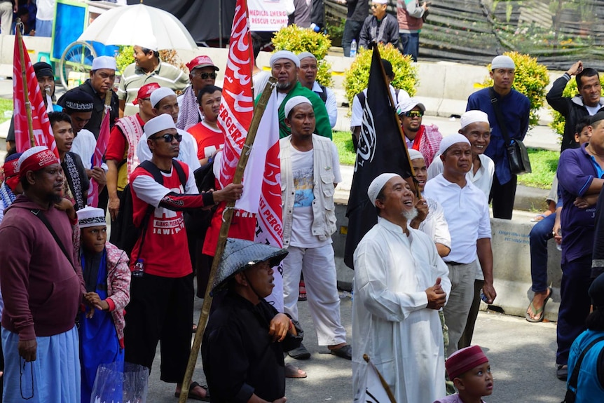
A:
{"type": "MultiPolygon", "coordinates": [[[[270,57],[270,69],[273,77],[277,78],[277,104],[279,104],[279,137],[287,137],[291,130],[285,124],[285,104],[291,97],[301,95],[308,98],[315,110],[315,133],[331,139],[331,125],[325,104],[319,95],[303,87],[298,81],[300,60],[289,50],[279,50],[270,57]]],[[[260,96],[256,98],[258,102],[260,96]]]]}

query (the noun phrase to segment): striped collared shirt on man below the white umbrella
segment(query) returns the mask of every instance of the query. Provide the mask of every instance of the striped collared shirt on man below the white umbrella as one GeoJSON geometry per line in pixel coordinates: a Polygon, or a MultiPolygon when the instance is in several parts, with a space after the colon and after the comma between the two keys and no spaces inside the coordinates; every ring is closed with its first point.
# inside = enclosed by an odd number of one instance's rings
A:
{"type": "Polygon", "coordinates": [[[181,69],[166,62],[160,62],[157,69],[146,74],[143,69],[132,63],[125,68],[118,88],[118,98],[125,100],[124,116],[137,114],[139,107],[132,104],[137,97],[139,88],[149,83],[158,83],[160,87],[181,91],[188,86],[188,75],[181,69]]]}

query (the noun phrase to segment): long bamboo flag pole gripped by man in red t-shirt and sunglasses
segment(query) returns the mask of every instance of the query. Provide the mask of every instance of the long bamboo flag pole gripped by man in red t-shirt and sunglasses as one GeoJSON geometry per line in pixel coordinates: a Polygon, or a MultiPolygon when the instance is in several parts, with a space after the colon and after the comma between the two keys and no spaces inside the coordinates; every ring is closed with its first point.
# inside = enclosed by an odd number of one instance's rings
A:
{"type": "MultiPolygon", "coordinates": [[[[243,148],[241,150],[241,156],[239,157],[239,162],[237,164],[237,168],[235,169],[235,175],[233,176],[234,184],[240,184],[241,180],[243,179],[245,165],[247,165],[249,153],[250,151],[252,151],[252,145],[254,144],[254,139],[256,139],[256,131],[258,130],[262,115],[264,114],[264,109],[266,109],[266,104],[268,104],[268,99],[270,98],[270,94],[273,93],[273,88],[275,87],[276,83],[277,80],[275,78],[270,77],[268,79],[268,83],[266,83],[266,86],[262,91],[262,95],[260,96],[258,104],[256,104],[256,107],[254,108],[254,116],[252,117],[252,123],[250,123],[249,125],[247,137],[245,138],[245,144],[243,145],[243,148]]],[[[203,332],[205,332],[207,318],[210,316],[210,307],[212,306],[212,296],[210,296],[210,289],[212,288],[212,284],[214,283],[214,278],[216,278],[218,264],[220,263],[220,259],[224,252],[226,238],[228,237],[228,229],[231,227],[231,219],[233,218],[233,210],[235,210],[234,201],[229,202],[226,205],[226,208],[224,209],[222,215],[222,225],[220,227],[220,235],[218,238],[216,254],[214,254],[214,260],[212,261],[212,271],[210,271],[210,278],[207,280],[208,287],[205,290],[203,306],[201,308],[201,315],[197,324],[197,331],[195,332],[195,339],[193,340],[193,346],[191,346],[191,354],[188,356],[188,363],[186,365],[186,371],[182,380],[179,403],[186,403],[186,399],[188,397],[188,388],[189,385],[191,385],[191,377],[193,376],[195,362],[197,361],[197,356],[201,347],[203,332]]]]}

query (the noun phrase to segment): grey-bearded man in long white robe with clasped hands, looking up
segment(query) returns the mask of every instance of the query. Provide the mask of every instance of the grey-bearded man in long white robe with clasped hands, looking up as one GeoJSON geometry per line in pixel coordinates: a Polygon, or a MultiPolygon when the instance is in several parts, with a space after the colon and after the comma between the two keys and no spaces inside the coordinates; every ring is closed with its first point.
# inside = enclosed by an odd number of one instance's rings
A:
{"type": "Polygon", "coordinates": [[[366,354],[397,403],[432,403],[446,395],[438,310],[451,289],[448,269],[430,237],[408,226],[417,210],[404,179],[382,174],[367,193],[379,217],[355,251],[354,401],[366,402],[371,393],[366,354]]]}

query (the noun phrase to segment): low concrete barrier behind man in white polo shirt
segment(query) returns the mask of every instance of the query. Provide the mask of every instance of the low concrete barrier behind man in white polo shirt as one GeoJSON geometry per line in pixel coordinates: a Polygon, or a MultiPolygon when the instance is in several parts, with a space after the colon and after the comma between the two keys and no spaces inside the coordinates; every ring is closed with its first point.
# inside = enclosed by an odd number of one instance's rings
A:
{"type": "MultiPolygon", "coordinates": [[[[336,204],[336,218],[338,219],[338,231],[331,235],[336,252],[336,270],[338,272],[338,285],[342,289],[352,288],[352,278],[355,272],[344,264],[344,246],[348,219],[345,217],[346,205],[336,204]]],[[[491,231],[493,238],[493,276],[497,298],[493,306],[508,315],[523,317],[526,308],[533,299],[530,290],[530,250],[528,234],[534,223],[530,222],[533,213],[514,211],[514,219],[491,219],[491,231]]],[[[558,306],[560,303],[560,282],[562,271],[560,268],[561,254],[556,249],[553,240],[548,245],[547,273],[548,282],[551,284],[554,294],[552,300],[547,303],[545,317],[555,321],[558,318],[558,306]]],[[[481,303],[486,309],[486,304],[481,303]]]]}

